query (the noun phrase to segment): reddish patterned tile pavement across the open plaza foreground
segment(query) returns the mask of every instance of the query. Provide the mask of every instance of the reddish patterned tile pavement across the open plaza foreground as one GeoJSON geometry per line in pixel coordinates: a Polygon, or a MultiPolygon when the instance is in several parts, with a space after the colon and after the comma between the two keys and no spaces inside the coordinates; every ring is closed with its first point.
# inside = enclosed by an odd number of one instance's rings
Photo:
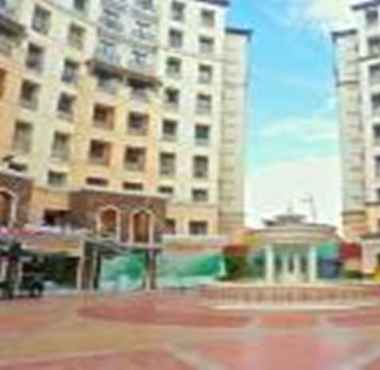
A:
{"type": "Polygon", "coordinates": [[[0,301],[0,370],[380,370],[380,307],[217,310],[173,293],[0,301]]]}

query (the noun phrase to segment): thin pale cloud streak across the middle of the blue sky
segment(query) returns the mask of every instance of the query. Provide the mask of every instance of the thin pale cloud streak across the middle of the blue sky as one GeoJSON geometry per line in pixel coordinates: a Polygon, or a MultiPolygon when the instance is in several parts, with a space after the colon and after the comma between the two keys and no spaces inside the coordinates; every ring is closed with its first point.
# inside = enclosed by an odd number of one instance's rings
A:
{"type": "Polygon", "coordinates": [[[272,122],[261,130],[264,139],[292,139],[303,143],[336,142],[338,127],[336,120],[325,118],[286,118],[272,122]]]}

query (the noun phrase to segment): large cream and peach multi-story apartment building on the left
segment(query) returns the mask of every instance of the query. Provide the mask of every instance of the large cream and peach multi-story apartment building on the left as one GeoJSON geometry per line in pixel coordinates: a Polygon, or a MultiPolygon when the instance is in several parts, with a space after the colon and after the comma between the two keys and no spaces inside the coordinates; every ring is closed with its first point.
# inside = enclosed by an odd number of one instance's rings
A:
{"type": "Polygon", "coordinates": [[[244,224],[250,32],[226,0],[0,0],[0,223],[244,224]]]}

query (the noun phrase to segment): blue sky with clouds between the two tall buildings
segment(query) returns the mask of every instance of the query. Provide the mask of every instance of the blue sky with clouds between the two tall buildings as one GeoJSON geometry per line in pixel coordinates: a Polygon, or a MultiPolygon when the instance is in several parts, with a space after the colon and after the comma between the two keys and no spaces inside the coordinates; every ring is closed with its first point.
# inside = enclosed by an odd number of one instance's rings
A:
{"type": "MultiPolygon", "coordinates": [[[[326,26],[346,0],[232,0],[229,23],[254,30],[247,142],[249,225],[290,204],[339,224],[333,49],[326,26]]],[[[342,6],[343,5],[343,6],[342,6]]],[[[335,17],[335,18],[334,18],[335,17]]],[[[340,19],[341,20],[341,19],[340,19]]]]}

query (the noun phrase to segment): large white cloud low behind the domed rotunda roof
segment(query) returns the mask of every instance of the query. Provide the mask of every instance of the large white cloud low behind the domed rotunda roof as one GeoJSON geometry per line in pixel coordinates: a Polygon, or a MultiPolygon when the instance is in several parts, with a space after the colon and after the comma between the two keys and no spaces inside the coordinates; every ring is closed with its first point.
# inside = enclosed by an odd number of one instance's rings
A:
{"type": "Polygon", "coordinates": [[[340,226],[341,178],[337,156],[277,162],[247,178],[246,209],[249,226],[259,226],[263,218],[284,212],[294,203],[295,210],[310,215],[301,199],[315,198],[318,221],[340,226]]]}

